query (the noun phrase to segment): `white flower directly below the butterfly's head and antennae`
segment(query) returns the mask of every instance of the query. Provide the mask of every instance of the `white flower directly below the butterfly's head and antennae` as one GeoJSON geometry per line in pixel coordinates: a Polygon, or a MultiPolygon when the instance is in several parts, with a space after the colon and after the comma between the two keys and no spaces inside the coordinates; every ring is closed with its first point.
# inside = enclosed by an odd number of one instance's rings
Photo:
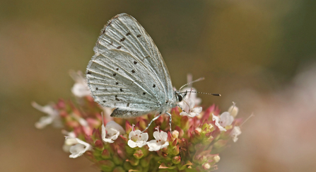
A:
{"type": "Polygon", "coordinates": [[[184,111],[180,113],[183,116],[195,117],[199,115],[202,111],[202,107],[194,108],[194,100],[191,98],[185,98],[182,102],[179,103],[184,111]]]}

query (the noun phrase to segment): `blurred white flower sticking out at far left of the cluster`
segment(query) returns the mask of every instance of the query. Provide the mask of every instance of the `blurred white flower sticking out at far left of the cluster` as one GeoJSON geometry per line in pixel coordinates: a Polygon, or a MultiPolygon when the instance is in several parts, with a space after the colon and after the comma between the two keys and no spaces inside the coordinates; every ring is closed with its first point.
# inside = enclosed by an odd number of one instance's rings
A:
{"type": "Polygon", "coordinates": [[[54,109],[52,105],[41,106],[35,102],[32,102],[32,105],[35,109],[47,114],[45,117],[40,117],[40,120],[35,123],[37,129],[42,129],[49,124],[52,124],[54,127],[62,127],[58,110],[54,109]]]}

